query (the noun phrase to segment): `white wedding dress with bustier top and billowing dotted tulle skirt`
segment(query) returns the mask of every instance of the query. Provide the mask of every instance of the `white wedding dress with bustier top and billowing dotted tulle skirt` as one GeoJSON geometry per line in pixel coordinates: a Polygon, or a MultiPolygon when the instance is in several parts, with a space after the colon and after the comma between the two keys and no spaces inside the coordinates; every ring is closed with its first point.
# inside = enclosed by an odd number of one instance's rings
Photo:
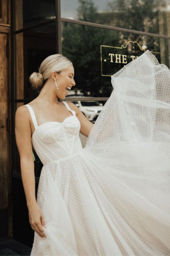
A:
{"type": "Polygon", "coordinates": [[[114,90],[86,146],[69,108],[38,126],[37,202],[46,238],[31,255],[170,255],[170,71],[145,52],[112,76],[114,90]]]}

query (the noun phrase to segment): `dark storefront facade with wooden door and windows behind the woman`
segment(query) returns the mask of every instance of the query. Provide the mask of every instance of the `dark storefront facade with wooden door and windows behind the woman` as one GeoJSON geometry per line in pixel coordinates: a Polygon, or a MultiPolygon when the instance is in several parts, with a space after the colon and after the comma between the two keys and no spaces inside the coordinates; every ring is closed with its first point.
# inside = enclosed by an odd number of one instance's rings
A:
{"type": "Polygon", "coordinates": [[[0,0],[1,239],[33,242],[14,133],[17,107],[38,96],[30,74],[63,53],[75,68],[67,101],[106,102],[110,76],[146,50],[170,67],[170,0],[0,0]]]}

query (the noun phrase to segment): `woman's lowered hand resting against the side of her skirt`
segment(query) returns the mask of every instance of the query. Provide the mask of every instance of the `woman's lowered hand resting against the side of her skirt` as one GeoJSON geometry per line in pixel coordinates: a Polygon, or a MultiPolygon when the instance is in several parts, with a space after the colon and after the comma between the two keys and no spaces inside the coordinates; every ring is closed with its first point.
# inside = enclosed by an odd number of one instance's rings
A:
{"type": "Polygon", "coordinates": [[[29,223],[31,228],[38,233],[41,237],[46,237],[43,227],[46,228],[43,219],[43,213],[39,205],[35,204],[28,208],[29,211],[29,223]]]}

